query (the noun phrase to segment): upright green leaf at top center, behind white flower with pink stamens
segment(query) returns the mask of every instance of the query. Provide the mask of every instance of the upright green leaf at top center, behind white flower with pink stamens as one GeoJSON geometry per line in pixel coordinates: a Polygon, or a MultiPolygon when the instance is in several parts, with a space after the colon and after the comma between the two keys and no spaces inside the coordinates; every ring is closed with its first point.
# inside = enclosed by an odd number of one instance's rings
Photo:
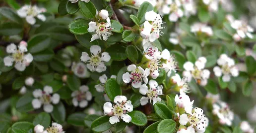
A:
{"type": "Polygon", "coordinates": [[[145,22],[145,14],[146,12],[148,11],[152,11],[154,10],[153,6],[151,3],[149,2],[143,2],[140,6],[139,6],[139,9],[138,9],[138,14],[137,14],[137,19],[138,19],[138,24],[142,24],[145,22]]]}

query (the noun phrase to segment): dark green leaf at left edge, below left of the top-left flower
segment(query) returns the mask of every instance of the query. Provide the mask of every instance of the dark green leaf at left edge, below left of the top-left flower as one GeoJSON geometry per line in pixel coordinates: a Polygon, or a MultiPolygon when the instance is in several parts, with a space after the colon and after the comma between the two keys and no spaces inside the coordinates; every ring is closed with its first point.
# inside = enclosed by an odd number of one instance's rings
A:
{"type": "Polygon", "coordinates": [[[15,35],[23,31],[23,27],[20,24],[6,22],[0,25],[0,35],[15,35]]]}

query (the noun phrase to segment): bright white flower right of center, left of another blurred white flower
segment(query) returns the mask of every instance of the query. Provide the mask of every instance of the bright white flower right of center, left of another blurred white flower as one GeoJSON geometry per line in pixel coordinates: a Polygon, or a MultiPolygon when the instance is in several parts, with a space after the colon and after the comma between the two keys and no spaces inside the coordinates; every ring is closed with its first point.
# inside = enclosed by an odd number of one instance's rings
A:
{"type": "Polygon", "coordinates": [[[204,69],[206,64],[205,57],[199,57],[197,61],[192,64],[192,62],[186,62],[183,67],[185,71],[183,71],[183,75],[188,78],[190,82],[192,77],[199,83],[201,86],[205,86],[208,82],[208,78],[210,77],[210,71],[208,69],[204,69]]]}

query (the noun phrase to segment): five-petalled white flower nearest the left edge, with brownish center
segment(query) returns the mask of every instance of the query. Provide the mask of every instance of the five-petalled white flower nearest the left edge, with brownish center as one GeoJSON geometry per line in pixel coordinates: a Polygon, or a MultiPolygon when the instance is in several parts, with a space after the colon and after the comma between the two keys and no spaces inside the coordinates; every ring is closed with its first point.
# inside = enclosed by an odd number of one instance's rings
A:
{"type": "Polygon", "coordinates": [[[15,62],[15,68],[18,71],[24,71],[26,66],[28,66],[33,61],[33,56],[27,52],[27,47],[24,45],[19,45],[17,50],[17,46],[13,43],[6,47],[6,52],[11,54],[3,58],[3,62],[5,66],[12,66],[13,62],[15,62]]]}

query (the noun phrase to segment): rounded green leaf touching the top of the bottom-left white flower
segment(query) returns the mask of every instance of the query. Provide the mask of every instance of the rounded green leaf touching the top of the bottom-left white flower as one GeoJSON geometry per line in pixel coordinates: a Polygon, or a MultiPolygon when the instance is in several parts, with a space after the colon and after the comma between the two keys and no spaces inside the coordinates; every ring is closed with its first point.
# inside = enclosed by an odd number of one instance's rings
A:
{"type": "Polygon", "coordinates": [[[51,124],[51,116],[46,112],[42,112],[34,118],[33,124],[34,126],[40,124],[44,127],[49,127],[51,124]]]}

